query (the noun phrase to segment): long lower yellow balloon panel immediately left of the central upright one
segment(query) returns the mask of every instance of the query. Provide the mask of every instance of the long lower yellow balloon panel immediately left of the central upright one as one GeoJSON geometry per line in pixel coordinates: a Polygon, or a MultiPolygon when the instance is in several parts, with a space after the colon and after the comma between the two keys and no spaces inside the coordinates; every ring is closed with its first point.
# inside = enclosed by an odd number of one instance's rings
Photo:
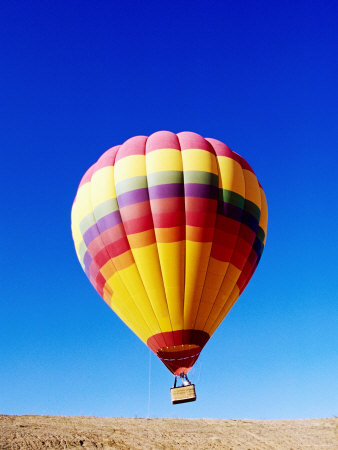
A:
{"type": "Polygon", "coordinates": [[[156,244],[133,248],[132,253],[161,331],[172,331],[156,244]]]}

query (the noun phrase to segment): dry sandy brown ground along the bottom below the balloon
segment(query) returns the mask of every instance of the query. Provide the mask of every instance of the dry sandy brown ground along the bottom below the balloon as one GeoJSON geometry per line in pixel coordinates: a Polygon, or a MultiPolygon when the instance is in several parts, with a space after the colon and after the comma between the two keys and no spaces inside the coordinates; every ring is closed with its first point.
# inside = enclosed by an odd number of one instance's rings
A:
{"type": "Polygon", "coordinates": [[[338,449],[338,418],[128,419],[0,415],[0,449],[338,449]]]}

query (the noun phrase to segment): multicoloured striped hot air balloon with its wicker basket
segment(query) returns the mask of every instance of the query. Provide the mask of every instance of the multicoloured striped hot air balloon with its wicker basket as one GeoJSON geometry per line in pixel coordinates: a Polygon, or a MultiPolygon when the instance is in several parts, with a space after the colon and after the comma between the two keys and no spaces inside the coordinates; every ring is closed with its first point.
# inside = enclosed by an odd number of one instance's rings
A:
{"type": "Polygon", "coordinates": [[[251,279],[266,229],[252,168],[196,133],[132,137],[83,176],[72,207],[78,259],[111,309],[190,389],[172,393],[173,403],[195,400],[187,374],[251,279]]]}

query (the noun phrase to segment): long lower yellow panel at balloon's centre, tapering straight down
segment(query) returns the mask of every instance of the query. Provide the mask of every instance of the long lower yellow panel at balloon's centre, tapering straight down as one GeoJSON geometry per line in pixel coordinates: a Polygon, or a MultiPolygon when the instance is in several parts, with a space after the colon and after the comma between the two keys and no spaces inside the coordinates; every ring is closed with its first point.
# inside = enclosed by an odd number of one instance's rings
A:
{"type": "Polygon", "coordinates": [[[182,330],[185,242],[157,243],[157,248],[171,324],[173,330],[182,330]]]}

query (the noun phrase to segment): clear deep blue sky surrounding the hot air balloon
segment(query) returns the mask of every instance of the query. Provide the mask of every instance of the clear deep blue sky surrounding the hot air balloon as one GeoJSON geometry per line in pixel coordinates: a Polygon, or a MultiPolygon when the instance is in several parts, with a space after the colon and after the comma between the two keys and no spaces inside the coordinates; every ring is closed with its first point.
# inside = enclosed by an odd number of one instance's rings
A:
{"type": "Polygon", "coordinates": [[[337,2],[11,1],[1,16],[0,413],[147,415],[149,351],[82,272],[70,209],[107,148],[167,129],[246,158],[269,226],[196,364],[198,401],[172,406],[153,356],[151,415],[337,415],[337,2]]]}

